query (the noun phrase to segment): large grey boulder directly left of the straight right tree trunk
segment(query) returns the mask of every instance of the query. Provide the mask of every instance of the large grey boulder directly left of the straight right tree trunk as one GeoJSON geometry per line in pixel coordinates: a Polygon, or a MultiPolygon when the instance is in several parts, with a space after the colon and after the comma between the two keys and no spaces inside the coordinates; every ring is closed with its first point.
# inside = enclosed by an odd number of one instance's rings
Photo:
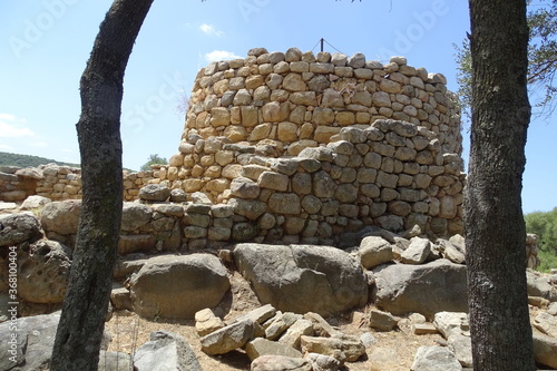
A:
{"type": "Polygon", "coordinates": [[[466,266],[441,258],[422,265],[394,264],[373,270],[374,302],[394,315],[468,312],[466,266]],[[450,287],[450,290],[447,290],[450,287]]]}

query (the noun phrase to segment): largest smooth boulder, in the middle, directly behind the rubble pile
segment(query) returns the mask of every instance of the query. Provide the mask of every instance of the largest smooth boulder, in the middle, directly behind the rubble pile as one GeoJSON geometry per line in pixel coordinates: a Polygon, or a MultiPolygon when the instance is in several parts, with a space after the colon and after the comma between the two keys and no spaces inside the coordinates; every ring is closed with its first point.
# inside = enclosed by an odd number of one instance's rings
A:
{"type": "Polygon", "coordinates": [[[236,245],[233,258],[260,301],[284,312],[329,314],[368,302],[359,262],[339,248],[247,243],[236,245]]]}

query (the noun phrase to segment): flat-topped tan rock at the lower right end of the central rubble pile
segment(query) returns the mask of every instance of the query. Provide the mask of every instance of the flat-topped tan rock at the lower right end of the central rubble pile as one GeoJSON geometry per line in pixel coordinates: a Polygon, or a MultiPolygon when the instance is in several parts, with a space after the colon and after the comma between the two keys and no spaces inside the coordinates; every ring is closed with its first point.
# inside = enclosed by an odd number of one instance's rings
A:
{"type": "Polygon", "coordinates": [[[339,362],[355,362],[365,354],[360,339],[355,336],[343,335],[342,338],[315,338],[302,336],[300,344],[304,353],[319,353],[331,355],[339,362]]]}

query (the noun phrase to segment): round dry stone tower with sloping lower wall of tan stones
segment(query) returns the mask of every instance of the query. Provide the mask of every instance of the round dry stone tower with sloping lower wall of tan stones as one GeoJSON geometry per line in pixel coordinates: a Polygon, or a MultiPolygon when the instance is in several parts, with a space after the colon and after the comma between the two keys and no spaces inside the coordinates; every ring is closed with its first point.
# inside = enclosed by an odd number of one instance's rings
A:
{"type": "Polygon", "coordinates": [[[460,116],[441,74],[356,53],[252,49],[197,74],[164,185],[234,205],[265,240],[378,224],[462,231],[460,116]]]}

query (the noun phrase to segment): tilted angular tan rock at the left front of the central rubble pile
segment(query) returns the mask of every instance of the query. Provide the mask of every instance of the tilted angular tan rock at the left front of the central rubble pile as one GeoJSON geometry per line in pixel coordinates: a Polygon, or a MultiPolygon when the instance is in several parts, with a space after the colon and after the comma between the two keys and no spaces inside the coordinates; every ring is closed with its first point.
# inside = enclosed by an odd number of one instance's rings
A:
{"type": "Polygon", "coordinates": [[[253,338],[254,329],[252,320],[234,322],[199,339],[202,351],[214,355],[228,353],[237,348],[242,348],[253,338]]]}

